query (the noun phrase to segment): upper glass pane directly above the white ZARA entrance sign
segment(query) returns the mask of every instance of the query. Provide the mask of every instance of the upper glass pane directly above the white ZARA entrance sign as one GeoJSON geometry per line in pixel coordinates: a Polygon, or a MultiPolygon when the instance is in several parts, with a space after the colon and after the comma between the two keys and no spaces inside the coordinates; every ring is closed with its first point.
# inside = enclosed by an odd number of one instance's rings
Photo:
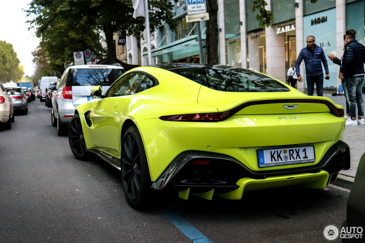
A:
{"type": "Polygon", "coordinates": [[[273,23],[281,23],[295,19],[293,0],[272,0],[271,11],[274,17],[273,23]]]}

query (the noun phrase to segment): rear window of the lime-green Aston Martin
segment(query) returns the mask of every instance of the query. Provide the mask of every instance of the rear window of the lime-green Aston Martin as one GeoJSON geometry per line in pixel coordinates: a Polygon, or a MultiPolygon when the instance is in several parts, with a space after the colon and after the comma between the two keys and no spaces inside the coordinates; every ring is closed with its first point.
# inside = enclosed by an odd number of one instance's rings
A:
{"type": "Polygon", "coordinates": [[[287,92],[290,89],[272,78],[239,67],[183,67],[169,69],[205,87],[226,92],[287,92]]]}

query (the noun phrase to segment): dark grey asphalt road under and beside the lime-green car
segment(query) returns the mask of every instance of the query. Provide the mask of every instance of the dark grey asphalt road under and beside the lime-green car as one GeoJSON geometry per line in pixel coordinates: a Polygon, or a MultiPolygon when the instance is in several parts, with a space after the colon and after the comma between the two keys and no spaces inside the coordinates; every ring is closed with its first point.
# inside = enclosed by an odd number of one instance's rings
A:
{"type": "Polygon", "coordinates": [[[75,159],[39,99],[0,131],[0,168],[0,242],[327,242],[323,229],[341,226],[349,195],[327,186],[247,192],[239,201],[155,197],[136,211],[119,171],[75,159]],[[189,239],[176,226],[184,220],[206,238],[189,239]]]}

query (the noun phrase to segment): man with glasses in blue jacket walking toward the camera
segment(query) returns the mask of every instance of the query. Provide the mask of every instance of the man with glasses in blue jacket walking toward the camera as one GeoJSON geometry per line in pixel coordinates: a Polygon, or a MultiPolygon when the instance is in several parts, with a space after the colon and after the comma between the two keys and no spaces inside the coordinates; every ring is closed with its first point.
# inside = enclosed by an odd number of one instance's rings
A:
{"type": "Polygon", "coordinates": [[[314,84],[316,84],[317,95],[323,96],[323,69],[326,70],[326,79],[330,78],[328,74],[328,65],[326,55],[324,55],[323,49],[315,44],[316,38],[313,35],[307,37],[307,47],[301,49],[299,57],[295,63],[295,69],[298,76],[298,81],[302,82],[300,77],[299,65],[304,59],[306,65],[306,79],[307,79],[307,91],[308,95],[313,95],[314,84]]]}

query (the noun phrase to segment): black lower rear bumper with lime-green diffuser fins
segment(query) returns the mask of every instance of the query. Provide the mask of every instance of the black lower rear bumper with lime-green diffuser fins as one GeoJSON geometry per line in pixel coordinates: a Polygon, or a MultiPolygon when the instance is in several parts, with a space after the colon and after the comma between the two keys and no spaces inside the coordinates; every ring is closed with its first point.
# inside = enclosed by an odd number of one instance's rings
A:
{"type": "Polygon", "coordinates": [[[342,141],[331,146],[316,165],[264,171],[250,170],[227,155],[186,151],[174,159],[160,178],[153,182],[152,188],[172,187],[183,198],[189,193],[200,193],[241,199],[243,191],[247,190],[291,185],[324,188],[330,180],[336,179],[340,170],[348,169],[350,148],[342,141]],[[209,161],[209,165],[192,164],[195,161],[209,161]]]}

